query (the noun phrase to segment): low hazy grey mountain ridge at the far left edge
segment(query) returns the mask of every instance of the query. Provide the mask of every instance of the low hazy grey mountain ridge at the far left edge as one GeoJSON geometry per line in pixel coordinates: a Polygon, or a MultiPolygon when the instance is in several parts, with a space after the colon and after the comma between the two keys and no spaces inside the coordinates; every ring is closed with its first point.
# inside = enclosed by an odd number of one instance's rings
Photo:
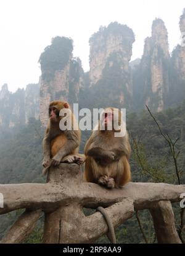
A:
{"type": "Polygon", "coordinates": [[[25,125],[31,117],[39,118],[39,85],[28,84],[26,89],[11,93],[4,84],[0,90],[0,127],[25,125]]]}

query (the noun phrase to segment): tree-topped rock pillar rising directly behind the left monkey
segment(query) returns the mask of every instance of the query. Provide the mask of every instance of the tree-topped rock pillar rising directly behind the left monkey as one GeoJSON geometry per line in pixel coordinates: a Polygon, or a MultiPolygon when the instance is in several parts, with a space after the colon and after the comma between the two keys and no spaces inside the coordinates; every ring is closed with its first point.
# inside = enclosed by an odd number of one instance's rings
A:
{"type": "Polygon", "coordinates": [[[56,37],[41,54],[39,109],[43,126],[47,125],[49,102],[52,100],[67,100],[70,104],[78,102],[79,90],[83,88],[83,69],[80,59],[73,58],[72,51],[71,39],[56,37]]]}

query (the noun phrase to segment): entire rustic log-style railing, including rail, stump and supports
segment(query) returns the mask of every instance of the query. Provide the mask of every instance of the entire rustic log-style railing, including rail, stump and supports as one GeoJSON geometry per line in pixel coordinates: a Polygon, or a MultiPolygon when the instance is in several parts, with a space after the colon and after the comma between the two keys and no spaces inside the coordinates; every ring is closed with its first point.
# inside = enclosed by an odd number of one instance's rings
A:
{"type": "Polygon", "coordinates": [[[45,213],[44,243],[96,241],[108,232],[107,223],[99,212],[84,216],[83,207],[98,206],[105,207],[113,227],[131,218],[134,210],[149,209],[158,242],[180,242],[169,204],[181,200],[180,195],[185,193],[184,185],[130,182],[122,188],[110,190],[85,182],[78,165],[60,164],[59,167],[51,167],[45,184],[0,185],[0,193],[4,196],[4,208],[0,208],[0,214],[27,209],[2,242],[23,241],[33,230],[41,210],[45,213]]]}

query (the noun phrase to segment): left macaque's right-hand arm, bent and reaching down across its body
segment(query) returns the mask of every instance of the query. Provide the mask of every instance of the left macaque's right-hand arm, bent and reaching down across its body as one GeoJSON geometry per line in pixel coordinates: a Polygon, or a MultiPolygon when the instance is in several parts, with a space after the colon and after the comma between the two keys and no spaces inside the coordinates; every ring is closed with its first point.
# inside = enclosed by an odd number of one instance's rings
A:
{"type": "Polygon", "coordinates": [[[71,152],[78,148],[80,144],[80,136],[78,135],[78,131],[67,131],[67,143],[65,143],[64,147],[62,147],[57,154],[52,158],[52,164],[57,166],[60,164],[62,158],[71,154],[71,152]]]}

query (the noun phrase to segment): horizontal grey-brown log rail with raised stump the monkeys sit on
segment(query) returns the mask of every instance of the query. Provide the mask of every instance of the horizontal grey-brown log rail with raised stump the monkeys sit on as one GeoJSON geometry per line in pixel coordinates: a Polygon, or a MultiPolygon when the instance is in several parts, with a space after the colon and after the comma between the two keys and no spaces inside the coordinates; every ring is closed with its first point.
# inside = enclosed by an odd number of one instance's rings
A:
{"type": "Polygon", "coordinates": [[[47,181],[46,184],[0,185],[0,193],[4,195],[4,208],[0,208],[0,214],[20,208],[42,208],[49,212],[69,203],[80,203],[87,208],[107,207],[123,198],[133,200],[135,210],[144,210],[157,201],[179,201],[181,193],[185,193],[185,185],[142,182],[130,182],[123,188],[109,190],[84,182],[82,171],[76,164],[60,164],[58,168],[51,168],[47,181]]]}

